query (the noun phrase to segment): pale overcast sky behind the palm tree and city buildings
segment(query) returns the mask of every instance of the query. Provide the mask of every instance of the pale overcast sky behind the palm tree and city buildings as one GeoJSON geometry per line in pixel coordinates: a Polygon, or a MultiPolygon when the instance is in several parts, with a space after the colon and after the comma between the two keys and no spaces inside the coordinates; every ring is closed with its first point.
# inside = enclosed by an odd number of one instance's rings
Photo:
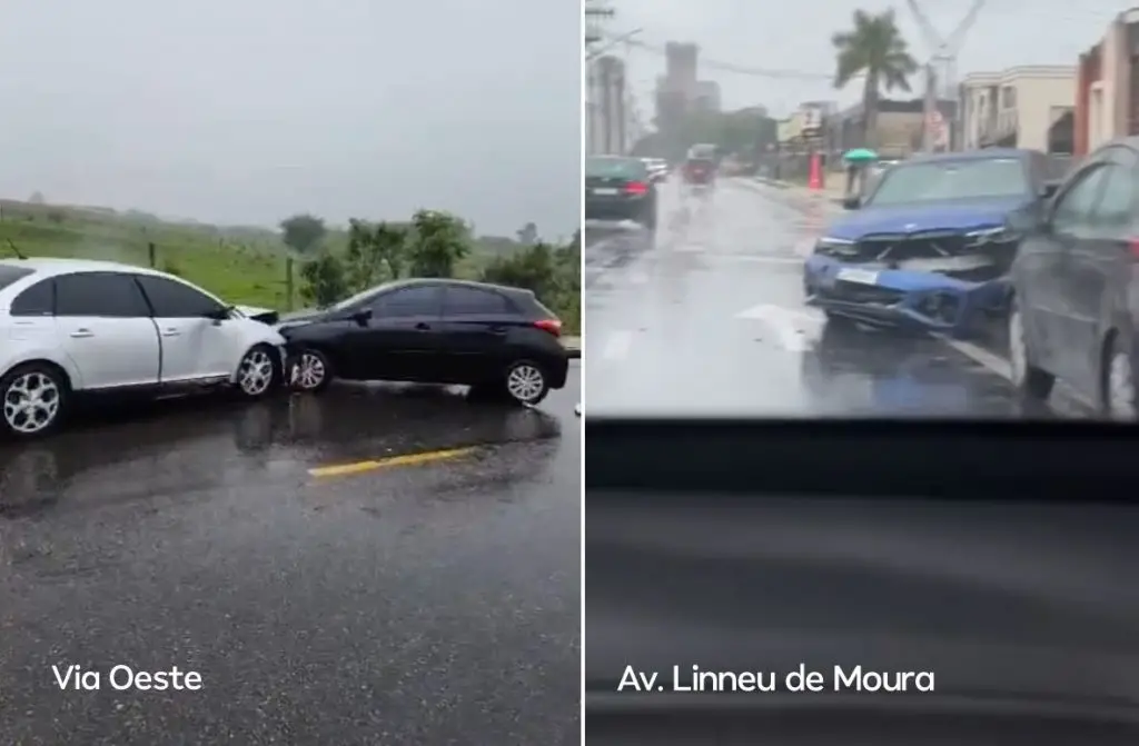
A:
{"type": "MultiPolygon", "coordinates": [[[[948,36],[972,2],[921,0],[919,5],[936,31],[948,36]]],[[[1111,19],[1130,5],[1115,0],[988,0],[965,38],[958,75],[1014,65],[1074,65],[1076,56],[1096,43],[1111,19]]],[[[855,8],[878,11],[894,7],[915,57],[925,62],[931,54],[903,0],[612,0],[612,6],[617,15],[609,30],[622,33],[644,28],[638,39],[646,44],[693,41],[700,46],[702,59],[818,73],[814,79],[779,80],[704,66],[699,76],[720,83],[726,108],[762,104],[786,115],[800,101],[838,100],[845,105],[858,100],[857,87],[839,93],[830,87],[830,35],[851,26],[855,8]]],[[[629,67],[639,105],[652,116],[650,95],[656,75],[664,71],[664,58],[633,48],[629,67]]],[[[912,85],[916,89],[918,81],[912,85]]]]}

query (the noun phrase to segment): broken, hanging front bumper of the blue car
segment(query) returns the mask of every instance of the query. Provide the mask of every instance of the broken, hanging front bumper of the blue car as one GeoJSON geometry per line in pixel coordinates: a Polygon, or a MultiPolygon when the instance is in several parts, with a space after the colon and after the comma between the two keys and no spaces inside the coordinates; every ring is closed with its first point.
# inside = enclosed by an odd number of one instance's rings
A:
{"type": "Polygon", "coordinates": [[[1009,294],[1008,257],[961,255],[894,265],[816,254],[806,262],[808,305],[876,326],[968,336],[1009,294]]]}

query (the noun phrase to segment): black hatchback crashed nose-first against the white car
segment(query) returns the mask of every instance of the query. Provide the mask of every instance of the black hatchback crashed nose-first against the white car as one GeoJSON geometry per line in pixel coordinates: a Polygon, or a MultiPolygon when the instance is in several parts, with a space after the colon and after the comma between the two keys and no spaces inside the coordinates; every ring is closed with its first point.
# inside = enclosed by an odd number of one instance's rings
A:
{"type": "Polygon", "coordinates": [[[302,391],[333,378],[459,384],[536,404],[570,367],[554,312],[530,290],[483,282],[390,282],[287,315],[279,330],[302,391]]]}

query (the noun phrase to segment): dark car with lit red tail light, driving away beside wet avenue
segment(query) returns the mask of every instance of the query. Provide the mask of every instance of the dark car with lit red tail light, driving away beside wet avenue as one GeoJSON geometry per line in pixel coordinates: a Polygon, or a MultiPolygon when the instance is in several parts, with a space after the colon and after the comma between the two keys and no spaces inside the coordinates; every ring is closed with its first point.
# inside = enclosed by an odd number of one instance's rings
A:
{"type": "Polygon", "coordinates": [[[640,158],[585,158],[585,220],[632,220],[656,230],[656,183],[640,158]]]}

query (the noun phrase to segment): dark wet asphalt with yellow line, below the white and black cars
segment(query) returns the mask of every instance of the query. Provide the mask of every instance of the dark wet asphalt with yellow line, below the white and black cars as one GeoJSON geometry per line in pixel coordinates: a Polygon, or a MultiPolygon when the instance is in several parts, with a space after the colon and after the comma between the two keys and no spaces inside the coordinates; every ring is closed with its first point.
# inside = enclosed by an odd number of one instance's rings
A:
{"type": "Polygon", "coordinates": [[[0,446],[0,744],[579,743],[579,399],[574,363],[538,410],[343,386],[0,446]]]}

